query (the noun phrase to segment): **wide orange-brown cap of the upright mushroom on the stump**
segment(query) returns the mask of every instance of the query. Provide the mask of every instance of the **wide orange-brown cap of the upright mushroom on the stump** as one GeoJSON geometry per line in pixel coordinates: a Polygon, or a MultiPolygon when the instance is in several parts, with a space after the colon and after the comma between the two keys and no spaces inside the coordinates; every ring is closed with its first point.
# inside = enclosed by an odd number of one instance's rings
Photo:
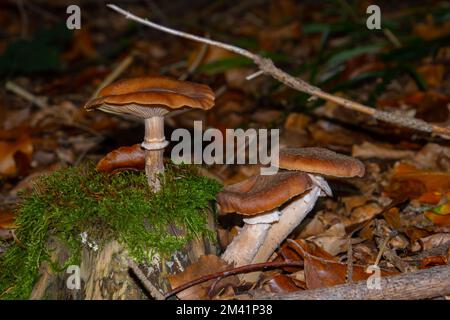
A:
{"type": "Polygon", "coordinates": [[[131,114],[140,118],[162,116],[172,109],[190,107],[208,110],[214,92],[206,85],[163,76],[124,79],[103,88],[85,109],[131,114]]]}

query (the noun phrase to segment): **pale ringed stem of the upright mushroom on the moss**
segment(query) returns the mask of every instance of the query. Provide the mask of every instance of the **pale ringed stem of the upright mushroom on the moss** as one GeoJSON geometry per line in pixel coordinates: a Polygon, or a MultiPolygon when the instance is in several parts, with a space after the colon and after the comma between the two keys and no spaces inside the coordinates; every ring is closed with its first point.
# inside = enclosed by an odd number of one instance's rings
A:
{"type": "Polygon", "coordinates": [[[148,184],[154,192],[161,188],[158,174],[164,172],[164,148],[167,144],[164,137],[164,117],[145,119],[145,136],[141,146],[145,149],[145,173],[148,184]]]}

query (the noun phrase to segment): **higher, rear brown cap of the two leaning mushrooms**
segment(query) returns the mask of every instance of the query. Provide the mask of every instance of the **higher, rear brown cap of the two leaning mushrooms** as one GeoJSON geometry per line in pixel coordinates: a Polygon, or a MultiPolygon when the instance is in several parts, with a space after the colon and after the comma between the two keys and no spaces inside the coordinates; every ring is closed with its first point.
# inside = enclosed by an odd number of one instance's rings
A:
{"type": "Polygon", "coordinates": [[[284,148],[279,152],[279,168],[334,177],[362,177],[364,164],[324,148],[284,148]]]}

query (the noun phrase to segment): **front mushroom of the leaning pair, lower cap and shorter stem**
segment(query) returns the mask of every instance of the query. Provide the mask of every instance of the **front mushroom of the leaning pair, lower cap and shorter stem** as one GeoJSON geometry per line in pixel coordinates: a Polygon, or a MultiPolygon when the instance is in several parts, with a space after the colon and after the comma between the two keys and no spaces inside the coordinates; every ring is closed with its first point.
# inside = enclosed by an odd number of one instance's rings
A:
{"type": "Polygon", "coordinates": [[[217,195],[220,211],[236,212],[246,218],[222,259],[235,266],[251,263],[265,242],[272,223],[279,220],[278,208],[311,187],[311,179],[302,172],[257,175],[226,186],[217,195]]]}

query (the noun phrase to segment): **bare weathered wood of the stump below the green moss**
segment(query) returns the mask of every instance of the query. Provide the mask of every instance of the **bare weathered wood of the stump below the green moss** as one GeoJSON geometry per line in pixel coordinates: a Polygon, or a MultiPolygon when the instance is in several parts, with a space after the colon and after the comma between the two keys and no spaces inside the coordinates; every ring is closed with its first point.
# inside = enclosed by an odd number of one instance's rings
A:
{"type": "MultiPolygon", "coordinates": [[[[214,218],[209,219],[209,227],[214,230],[214,218]]],[[[173,231],[177,232],[177,231],[173,231]]],[[[178,231],[179,232],[179,231],[178,231]]],[[[57,239],[51,238],[47,247],[51,250],[52,261],[59,265],[69,257],[67,248],[57,239]]],[[[168,276],[196,262],[200,256],[215,254],[215,243],[207,239],[195,239],[182,250],[175,252],[170,259],[154,256],[152,263],[140,265],[141,274],[137,274],[136,265],[130,266],[130,256],[127,250],[113,240],[93,251],[85,246],[81,253],[80,288],[70,289],[68,282],[73,273],[66,270],[55,271],[47,262],[39,269],[39,280],[33,287],[30,299],[51,300],[141,300],[160,298],[155,292],[148,292],[148,286],[143,283],[142,274],[152,287],[162,295],[170,291],[168,276]],[[134,271],[130,269],[133,267],[134,271]],[[153,295],[152,295],[153,293],[153,295]]]]}

